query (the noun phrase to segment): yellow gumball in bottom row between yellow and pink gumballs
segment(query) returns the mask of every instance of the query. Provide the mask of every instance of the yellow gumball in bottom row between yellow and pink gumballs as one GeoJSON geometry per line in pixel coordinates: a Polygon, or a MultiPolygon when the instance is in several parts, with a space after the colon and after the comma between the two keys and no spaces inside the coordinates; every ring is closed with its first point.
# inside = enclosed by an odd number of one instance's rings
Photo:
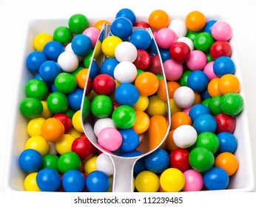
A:
{"type": "Polygon", "coordinates": [[[185,177],[179,169],[169,168],[160,175],[160,185],[166,192],[178,192],[185,185],[185,177]]]}

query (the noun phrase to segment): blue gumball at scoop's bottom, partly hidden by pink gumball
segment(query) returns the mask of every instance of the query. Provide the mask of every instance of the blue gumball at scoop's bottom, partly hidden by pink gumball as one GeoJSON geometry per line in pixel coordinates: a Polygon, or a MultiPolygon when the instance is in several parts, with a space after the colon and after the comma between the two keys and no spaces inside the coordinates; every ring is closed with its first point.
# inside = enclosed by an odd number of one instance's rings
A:
{"type": "Polygon", "coordinates": [[[135,150],[139,144],[138,133],[134,129],[121,129],[119,132],[122,135],[123,141],[120,146],[122,152],[131,152],[135,150]]]}

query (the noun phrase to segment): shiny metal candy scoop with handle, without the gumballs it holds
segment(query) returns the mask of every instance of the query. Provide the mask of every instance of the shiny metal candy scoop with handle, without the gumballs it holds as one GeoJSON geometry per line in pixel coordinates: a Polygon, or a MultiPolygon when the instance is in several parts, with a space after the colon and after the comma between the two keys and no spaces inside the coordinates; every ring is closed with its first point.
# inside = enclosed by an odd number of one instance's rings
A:
{"type": "MultiPolygon", "coordinates": [[[[105,38],[107,38],[110,34],[110,25],[104,24],[102,27],[101,33],[98,37],[97,44],[95,45],[95,50],[98,50],[98,48],[101,48],[101,43],[104,41],[105,38]]],[[[149,28],[138,28],[133,27],[133,30],[146,30],[152,37],[152,45],[150,47],[151,50],[154,50],[154,52],[150,53],[150,55],[158,55],[159,56],[159,64],[161,65],[161,74],[158,73],[158,75],[163,75],[164,77],[164,83],[165,83],[165,89],[166,87],[166,78],[164,75],[164,67],[161,61],[161,55],[158,50],[157,44],[155,42],[154,35],[152,34],[152,30],[149,28]]],[[[141,157],[145,157],[146,155],[149,155],[150,153],[154,152],[155,149],[158,149],[162,143],[164,143],[164,140],[166,139],[166,136],[169,133],[170,123],[171,123],[171,115],[169,112],[169,97],[168,92],[166,90],[166,107],[167,107],[167,113],[164,117],[164,125],[163,121],[162,123],[154,123],[152,126],[149,126],[149,129],[144,132],[142,135],[140,135],[140,144],[137,149],[135,149],[132,152],[110,152],[107,149],[104,149],[101,145],[98,144],[97,137],[95,136],[93,127],[95,124],[95,121],[97,121],[98,118],[95,118],[95,116],[90,113],[90,102],[92,101],[92,95],[88,93],[90,85],[88,84],[89,76],[92,68],[92,62],[96,61],[98,66],[100,67],[103,61],[107,58],[103,52],[101,52],[101,55],[95,55],[95,50],[92,54],[92,60],[90,63],[88,75],[87,75],[87,81],[86,85],[84,87],[84,95],[82,98],[81,103],[81,123],[84,129],[85,135],[87,135],[87,138],[90,140],[90,142],[101,152],[107,154],[110,156],[113,166],[114,166],[114,174],[113,174],[113,183],[112,183],[112,191],[114,192],[132,192],[134,189],[134,183],[133,183],[133,167],[138,159],[141,157]],[[161,125],[161,126],[160,126],[161,125]],[[158,128],[159,126],[159,128],[158,128]]],[[[92,81],[92,80],[90,80],[92,81]]],[[[150,123],[151,124],[151,123],[150,123]]]]}

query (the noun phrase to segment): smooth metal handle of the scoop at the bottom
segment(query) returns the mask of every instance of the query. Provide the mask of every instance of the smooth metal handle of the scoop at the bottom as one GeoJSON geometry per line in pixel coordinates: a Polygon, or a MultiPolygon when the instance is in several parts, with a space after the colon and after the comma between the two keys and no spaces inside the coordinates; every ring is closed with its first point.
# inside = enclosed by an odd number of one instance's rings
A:
{"type": "Polygon", "coordinates": [[[133,192],[133,167],[138,158],[110,157],[114,164],[112,192],[133,192]]]}

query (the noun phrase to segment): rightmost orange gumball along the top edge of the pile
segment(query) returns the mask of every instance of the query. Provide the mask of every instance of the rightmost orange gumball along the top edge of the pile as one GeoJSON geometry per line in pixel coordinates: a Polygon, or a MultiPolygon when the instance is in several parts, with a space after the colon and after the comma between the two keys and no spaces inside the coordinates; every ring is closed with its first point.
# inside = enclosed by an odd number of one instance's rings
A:
{"type": "Polygon", "coordinates": [[[186,27],[192,31],[202,30],[206,24],[206,17],[199,11],[192,11],[186,15],[186,27]]]}

